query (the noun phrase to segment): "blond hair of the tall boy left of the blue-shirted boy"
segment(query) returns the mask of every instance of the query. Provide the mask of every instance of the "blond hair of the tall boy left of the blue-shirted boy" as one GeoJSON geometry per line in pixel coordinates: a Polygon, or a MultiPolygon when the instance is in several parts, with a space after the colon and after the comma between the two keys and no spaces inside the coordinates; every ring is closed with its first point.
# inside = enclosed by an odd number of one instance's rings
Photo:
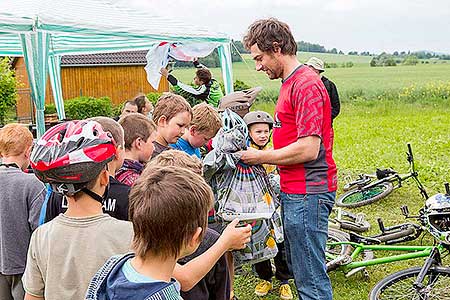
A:
{"type": "Polygon", "coordinates": [[[173,93],[163,93],[153,110],[153,121],[158,124],[159,119],[165,116],[166,121],[169,122],[177,114],[183,112],[188,112],[192,118],[192,108],[186,99],[173,93]]]}

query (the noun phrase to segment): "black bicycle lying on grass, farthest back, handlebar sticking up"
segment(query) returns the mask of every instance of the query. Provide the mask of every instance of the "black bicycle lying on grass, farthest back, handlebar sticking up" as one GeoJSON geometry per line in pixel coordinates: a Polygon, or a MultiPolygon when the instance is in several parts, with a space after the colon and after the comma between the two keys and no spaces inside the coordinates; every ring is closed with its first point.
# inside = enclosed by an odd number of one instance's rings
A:
{"type": "Polygon", "coordinates": [[[409,173],[399,174],[392,169],[377,169],[375,174],[360,174],[356,180],[344,186],[344,191],[347,192],[336,199],[336,205],[352,208],[370,204],[385,198],[393,190],[402,187],[403,181],[410,178],[417,184],[422,196],[427,199],[428,195],[415,169],[411,144],[408,144],[406,155],[409,163],[409,173]]]}

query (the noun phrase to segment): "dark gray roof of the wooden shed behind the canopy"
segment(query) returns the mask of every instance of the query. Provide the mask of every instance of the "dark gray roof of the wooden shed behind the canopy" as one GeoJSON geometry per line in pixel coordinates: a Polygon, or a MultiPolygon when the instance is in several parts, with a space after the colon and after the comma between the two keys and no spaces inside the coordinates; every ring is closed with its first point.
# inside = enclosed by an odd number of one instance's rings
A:
{"type": "Polygon", "coordinates": [[[61,57],[61,66],[145,65],[146,54],[147,50],[64,55],[61,57]]]}

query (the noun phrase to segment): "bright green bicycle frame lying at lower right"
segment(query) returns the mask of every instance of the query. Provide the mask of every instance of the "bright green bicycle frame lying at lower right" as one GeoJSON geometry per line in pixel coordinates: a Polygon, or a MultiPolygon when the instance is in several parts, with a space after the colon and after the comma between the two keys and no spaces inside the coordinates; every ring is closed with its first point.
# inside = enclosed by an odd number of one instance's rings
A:
{"type": "MultiPolygon", "coordinates": [[[[432,254],[433,249],[437,249],[440,253],[444,250],[444,247],[441,244],[437,246],[398,246],[398,245],[365,245],[362,243],[353,243],[353,242],[335,242],[335,243],[327,243],[327,246],[338,246],[338,245],[351,245],[355,248],[355,250],[349,256],[351,259],[350,263],[342,264],[338,266],[336,269],[343,271],[344,273],[348,273],[349,271],[361,268],[368,267],[373,265],[380,265],[386,263],[392,263],[397,261],[403,261],[408,259],[420,258],[420,257],[428,257],[432,254]],[[398,255],[390,255],[386,257],[373,258],[362,261],[354,261],[358,255],[360,255],[364,250],[371,251],[398,251],[398,252],[408,252],[405,254],[398,255]]],[[[337,259],[339,256],[334,256],[330,253],[326,253],[327,258],[337,259]]]]}

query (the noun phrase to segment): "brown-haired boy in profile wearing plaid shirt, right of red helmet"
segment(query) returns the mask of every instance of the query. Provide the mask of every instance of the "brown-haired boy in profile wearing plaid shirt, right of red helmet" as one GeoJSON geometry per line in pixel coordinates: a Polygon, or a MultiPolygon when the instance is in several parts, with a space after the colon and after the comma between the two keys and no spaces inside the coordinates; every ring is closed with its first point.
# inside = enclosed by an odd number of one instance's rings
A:
{"type": "Polygon", "coordinates": [[[156,126],[146,116],[133,113],[119,120],[125,138],[125,160],[116,172],[116,179],[132,186],[144,170],[153,153],[156,126]]]}

